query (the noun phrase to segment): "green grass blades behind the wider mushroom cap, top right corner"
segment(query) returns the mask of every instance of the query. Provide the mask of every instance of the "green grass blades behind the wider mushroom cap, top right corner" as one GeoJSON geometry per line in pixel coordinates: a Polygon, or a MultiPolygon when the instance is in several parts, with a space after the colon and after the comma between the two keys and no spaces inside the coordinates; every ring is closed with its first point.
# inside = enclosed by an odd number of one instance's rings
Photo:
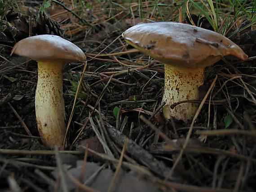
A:
{"type": "MultiPolygon", "coordinates": [[[[236,35],[238,32],[251,27],[255,21],[255,2],[248,0],[221,1],[221,0],[187,0],[186,14],[193,23],[190,15],[192,13],[204,16],[210,23],[214,31],[227,35],[227,32],[233,31],[228,37],[236,35]],[[238,21],[247,19],[249,23],[238,30],[231,30],[238,25],[238,21]]],[[[198,25],[195,23],[194,25],[198,25]]]]}

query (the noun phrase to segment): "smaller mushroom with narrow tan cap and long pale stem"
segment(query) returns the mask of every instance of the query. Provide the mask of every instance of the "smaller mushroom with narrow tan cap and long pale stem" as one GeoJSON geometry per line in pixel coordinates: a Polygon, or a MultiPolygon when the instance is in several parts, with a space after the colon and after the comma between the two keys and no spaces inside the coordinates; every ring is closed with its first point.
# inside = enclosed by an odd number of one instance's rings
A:
{"type": "Polygon", "coordinates": [[[66,63],[86,61],[84,52],[59,36],[37,35],[19,41],[13,53],[37,61],[35,115],[38,131],[46,146],[62,148],[66,133],[62,70],[66,63]]]}

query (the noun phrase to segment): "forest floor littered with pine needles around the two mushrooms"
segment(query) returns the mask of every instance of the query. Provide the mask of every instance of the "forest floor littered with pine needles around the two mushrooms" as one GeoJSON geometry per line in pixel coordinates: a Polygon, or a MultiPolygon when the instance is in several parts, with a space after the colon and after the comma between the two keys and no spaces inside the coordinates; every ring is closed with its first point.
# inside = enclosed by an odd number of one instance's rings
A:
{"type": "Polygon", "coordinates": [[[255,191],[255,4],[214,3],[216,24],[202,2],[0,0],[0,191],[255,191]],[[200,113],[185,124],[163,117],[163,64],[122,33],[140,22],[191,20],[248,59],[206,68],[200,113]],[[63,71],[65,151],[45,147],[37,131],[36,61],[10,56],[15,42],[41,34],[68,39],[87,57],[84,74],[83,63],[63,71]]]}

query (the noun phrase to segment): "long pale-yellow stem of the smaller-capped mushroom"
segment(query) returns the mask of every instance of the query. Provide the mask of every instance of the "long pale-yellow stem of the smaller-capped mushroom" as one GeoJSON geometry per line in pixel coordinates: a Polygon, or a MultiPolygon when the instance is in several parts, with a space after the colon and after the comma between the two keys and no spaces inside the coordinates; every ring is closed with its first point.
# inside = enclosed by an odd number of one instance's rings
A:
{"type": "Polygon", "coordinates": [[[62,96],[63,63],[38,61],[35,115],[42,142],[49,148],[62,147],[66,132],[62,96]]]}

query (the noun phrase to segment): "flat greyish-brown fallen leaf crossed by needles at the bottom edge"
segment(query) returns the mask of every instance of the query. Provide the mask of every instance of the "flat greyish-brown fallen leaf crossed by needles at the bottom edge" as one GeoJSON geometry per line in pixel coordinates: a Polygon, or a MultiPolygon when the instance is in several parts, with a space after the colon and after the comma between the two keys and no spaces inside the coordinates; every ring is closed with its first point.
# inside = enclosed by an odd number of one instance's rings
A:
{"type": "MultiPolygon", "coordinates": [[[[77,161],[76,167],[67,169],[66,170],[75,177],[75,179],[79,179],[80,172],[82,170],[82,166],[84,161],[77,161]]],[[[102,169],[101,166],[94,162],[87,162],[86,169],[84,173],[84,178],[82,182],[86,182],[97,170],[100,172],[95,176],[95,178],[91,179],[89,183],[87,183],[88,187],[93,188],[94,190],[100,192],[107,192],[111,180],[114,176],[114,172],[111,169],[102,169]]],[[[57,179],[58,171],[54,170],[52,175],[57,179]]],[[[75,190],[76,185],[68,179],[68,176],[64,173],[66,178],[66,185],[68,191],[75,190]]],[[[62,186],[62,184],[60,184],[62,186]]],[[[59,189],[62,191],[62,188],[59,189]]],[[[115,192],[159,192],[158,187],[151,183],[146,179],[140,178],[135,172],[126,172],[124,170],[120,170],[119,174],[117,175],[117,179],[115,180],[114,187],[112,191],[115,192]]]]}

